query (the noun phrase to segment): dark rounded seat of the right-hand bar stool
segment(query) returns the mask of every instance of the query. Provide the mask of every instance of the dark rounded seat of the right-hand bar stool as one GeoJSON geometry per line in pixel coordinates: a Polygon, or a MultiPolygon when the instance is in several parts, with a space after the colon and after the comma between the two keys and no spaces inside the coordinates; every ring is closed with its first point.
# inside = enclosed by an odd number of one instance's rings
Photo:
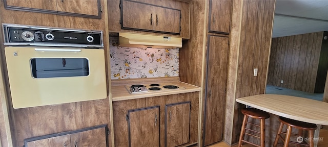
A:
{"type": "Polygon", "coordinates": [[[279,116],[279,121],[283,124],[286,124],[288,126],[292,126],[293,128],[302,129],[302,130],[316,130],[317,125],[311,124],[308,122],[298,121],[294,119],[289,119],[285,117],[279,116]]]}

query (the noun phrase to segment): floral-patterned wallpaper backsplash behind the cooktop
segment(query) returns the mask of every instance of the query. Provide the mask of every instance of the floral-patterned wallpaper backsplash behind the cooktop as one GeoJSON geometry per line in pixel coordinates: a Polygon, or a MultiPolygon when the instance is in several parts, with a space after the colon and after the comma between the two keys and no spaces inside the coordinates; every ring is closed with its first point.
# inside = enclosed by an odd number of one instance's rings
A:
{"type": "Polygon", "coordinates": [[[179,76],[179,48],[118,47],[117,42],[110,37],[111,79],[179,76]]]}

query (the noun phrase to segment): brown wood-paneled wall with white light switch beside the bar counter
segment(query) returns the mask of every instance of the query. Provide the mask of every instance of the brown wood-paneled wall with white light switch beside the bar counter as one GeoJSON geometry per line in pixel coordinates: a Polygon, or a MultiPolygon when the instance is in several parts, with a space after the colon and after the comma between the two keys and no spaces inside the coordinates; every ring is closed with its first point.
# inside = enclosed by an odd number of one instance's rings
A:
{"type": "MultiPolygon", "coordinates": [[[[236,80],[236,97],[263,94],[267,80],[269,53],[272,36],[272,24],[275,1],[243,1],[240,24],[239,56],[236,80]],[[253,76],[254,68],[258,68],[258,75],[253,76]]],[[[238,21],[238,20],[232,20],[238,21]]],[[[231,41],[236,38],[231,38],[231,41]]],[[[238,40],[238,38],[236,39],[238,40]]],[[[229,76],[230,77],[230,76],[229,76]]],[[[228,79],[234,81],[234,79],[228,79]]],[[[229,89],[228,89],[229,90],[229,89]]],[[[227,99],[233,99],[227,97],[227,99]]],[[[231,142],[236,143],[239,139],[242,114],[235,103],[233,110],[233,125],[231,142]]]]}

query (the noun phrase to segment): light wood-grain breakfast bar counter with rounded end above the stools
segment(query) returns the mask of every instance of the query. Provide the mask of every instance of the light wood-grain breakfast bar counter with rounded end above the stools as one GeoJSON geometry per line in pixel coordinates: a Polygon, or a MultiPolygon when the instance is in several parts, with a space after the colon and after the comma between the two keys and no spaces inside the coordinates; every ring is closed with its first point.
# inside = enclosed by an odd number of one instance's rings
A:
{"type": "MultiPolygon", "coordinates": [[[[303,97],[259,94],[241,97],[236,102],[260,109],[278,116],[317,124],[314,137],[319,136],[320,125],[328,125],[328,103],[306,99],[303,97]]],[[[314,146],[317,146],[317,141],[314,146]]]]}

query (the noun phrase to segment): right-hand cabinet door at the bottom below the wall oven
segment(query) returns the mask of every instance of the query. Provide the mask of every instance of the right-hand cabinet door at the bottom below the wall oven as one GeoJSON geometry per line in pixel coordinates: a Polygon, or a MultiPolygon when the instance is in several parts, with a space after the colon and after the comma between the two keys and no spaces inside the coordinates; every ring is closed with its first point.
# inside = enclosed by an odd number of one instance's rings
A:
{"type": "Polygon", "coordinates": [[[108,146],[106,127],[71,132],[71,146],[108,146]]]}

